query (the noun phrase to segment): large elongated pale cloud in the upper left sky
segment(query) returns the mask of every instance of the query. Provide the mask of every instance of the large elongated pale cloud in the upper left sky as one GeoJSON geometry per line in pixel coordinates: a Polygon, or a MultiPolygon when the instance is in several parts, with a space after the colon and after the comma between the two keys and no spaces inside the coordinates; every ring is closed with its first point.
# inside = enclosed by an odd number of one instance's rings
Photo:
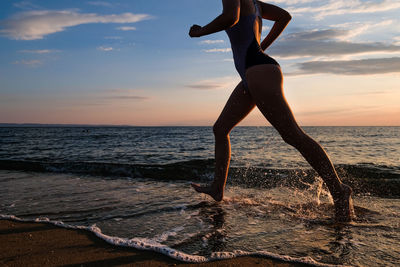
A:
{"type": "Polygon", "coordinates": [[[98,15],[73,10],[20,12],[0,21],[0,34],[15,40],[36,40],[56,32],[88,23],[134,23],[149,19],[147,14],[98,15]]]}

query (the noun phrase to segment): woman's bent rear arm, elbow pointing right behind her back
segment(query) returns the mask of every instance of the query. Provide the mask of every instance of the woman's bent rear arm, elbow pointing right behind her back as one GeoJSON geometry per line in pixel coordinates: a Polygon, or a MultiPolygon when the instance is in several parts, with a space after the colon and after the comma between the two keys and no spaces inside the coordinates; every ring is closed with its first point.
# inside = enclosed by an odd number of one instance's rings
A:
{"type": "Polygon", "coordinates": [[[261,1],[258,1],[258,3],[261,6],[263,19],[275,21],[267,37],[265,37],[265,39],[261,42],[261,49],[265,50],[283,32],[283,30],[289,24],[289,21],[292,19],[292,16],[290,16],[289,12],[280,7],[266,4],[261,1]]]}

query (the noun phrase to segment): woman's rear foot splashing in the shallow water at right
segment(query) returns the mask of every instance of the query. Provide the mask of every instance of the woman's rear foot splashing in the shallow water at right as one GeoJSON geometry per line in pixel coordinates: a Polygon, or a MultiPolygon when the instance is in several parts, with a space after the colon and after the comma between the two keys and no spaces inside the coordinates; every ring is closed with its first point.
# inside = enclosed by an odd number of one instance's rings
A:
{"type": "Polygon", "coordinates": [[[335,204],[335,218],[338,222],[350,222],[354,217],[353,200],[351,195],[353,190],[350,186],[342,184],[342,194],[335,204]]]}

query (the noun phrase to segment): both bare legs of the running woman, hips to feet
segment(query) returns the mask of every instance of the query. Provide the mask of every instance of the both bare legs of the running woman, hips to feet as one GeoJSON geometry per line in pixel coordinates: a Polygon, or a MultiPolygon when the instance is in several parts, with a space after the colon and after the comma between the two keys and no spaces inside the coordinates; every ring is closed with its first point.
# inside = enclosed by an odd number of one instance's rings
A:
{"type": "Polygon", "coordinates": [[[215,135],[215,176],[210,186],[192,184],[199,193],[221,201],[230,163],[229,132],[257,105],[265,118],[275,127],[283,140],[295,147],[327,184],[335,205],[338,221],[350,221],[352,216],[351,193],[343,184],[324,149],[309,137],[297,124],[283,94],[283,77],[276,65],[257,65],[248,69],[246,78],[250,90],[244,93],[240,83],[226,103],[217,122],[215,135]]]}

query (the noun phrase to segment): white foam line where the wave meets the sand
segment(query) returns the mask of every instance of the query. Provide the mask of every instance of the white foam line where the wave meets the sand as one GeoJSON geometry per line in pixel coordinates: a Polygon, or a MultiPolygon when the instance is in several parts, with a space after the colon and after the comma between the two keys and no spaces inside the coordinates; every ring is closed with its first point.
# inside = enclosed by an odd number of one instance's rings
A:
{"type": "MultiPolygon", "coordinates": [[[[203,262],[209,262],[209,261],[216,261],[216,260],[225,260],[225,259],[232,259],[236,257],[242,257],[242,256],[261,256],[261,257],[266,257],[266,258],[271,258],[271,259],[276,259],[276,260],[281,260],[285,262],[291,262],[291,263],[305,263],[313,266],[321,266],[321,267],[329,267],[329,266],[344,266],[344,265],[331,265],[331,264],[324,264],[315,261],[311,257],[302,257],[302,258],[295,258],[287,255],[278,255],[269,251],[258,251],[258,252],[247,252],[247,251],[242,251],[242,250],[235,250],[233,252],[214,252],[211,254],[209,258],[204,257],[204,256],[197,256],[197,255],[190,255],[178,250],[175,250],[173,248],[170,248],[166,245],[163,245],[159,242],[157,242],[155,239],[147,239],[147,238],[121,238],[121,237],[115,237],[115,236],[108,236],[106,234],[103,234],[101,232],[101,229],[97,227],[96,225],[92,225],[89,227],[86,226],[74,226],[74,225],[69,225],[65,224],[64,222],[61,221],[51,221],[49,218],[37,218],[37,219],[21,219],[18,218],[14,215],[2,215],[0,214],[0,220],[13,220],[13,221],[18,221],[18,222],[34,222],[34,223],[47,223],[47,224],[52,224],[58,227],[66,228],[66,229],[79,229],[79,230],[85,230],[88,232],[92,232],[95,234],[97,237],[100,239],[103,239],[107,243],[114,245],[114,246],[120,246],[120,247],[130,247],[130,248],[135,248],[139,250],[150,250],[150,251],[155,251],[161,254],[164,254],[166,256],[169,256],[173,259],[183,261],[183,262],[188,262],[188,263],[203,263],[203,262]]],[[[173,229],[171,233],[176,233],[180,231],[180,228],[173,229]]],[[[170,233],[167,234],[167,236],[170,233]]]]}

